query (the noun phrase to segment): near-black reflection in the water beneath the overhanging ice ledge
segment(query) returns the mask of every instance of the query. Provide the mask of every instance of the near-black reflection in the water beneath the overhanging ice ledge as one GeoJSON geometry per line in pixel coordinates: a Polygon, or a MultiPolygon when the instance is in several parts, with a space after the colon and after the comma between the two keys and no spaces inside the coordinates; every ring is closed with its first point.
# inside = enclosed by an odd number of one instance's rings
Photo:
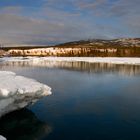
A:
{"type": "Polygon", "coordinates": [[[8,140],[39,140],[51,131],[49,125],[39,121],[27,109],[12,112],[0,119],[0,134],[8,140]]]}

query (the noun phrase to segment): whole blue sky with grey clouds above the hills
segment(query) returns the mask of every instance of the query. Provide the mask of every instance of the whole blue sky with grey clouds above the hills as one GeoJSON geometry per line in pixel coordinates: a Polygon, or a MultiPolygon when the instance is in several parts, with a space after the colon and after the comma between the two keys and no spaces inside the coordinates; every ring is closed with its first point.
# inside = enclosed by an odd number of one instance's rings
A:
{"type": "Polygon", "coordinates": [[[140,37],[140,0],[0,0],[0,43],[140,37]]]}

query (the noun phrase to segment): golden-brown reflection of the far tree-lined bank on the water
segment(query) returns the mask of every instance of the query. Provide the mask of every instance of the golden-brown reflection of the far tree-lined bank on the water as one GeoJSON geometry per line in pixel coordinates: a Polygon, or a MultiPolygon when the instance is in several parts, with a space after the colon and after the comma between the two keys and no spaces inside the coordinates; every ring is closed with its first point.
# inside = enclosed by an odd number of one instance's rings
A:
{"type": "Polygon", "coordinates": [[[47,67],[47,68],[59,68],[67,70],[82,71],[88,73],[104,73],[104,72],[117,72],[122,75],[139,75],[139,65],[126,65],[126,64],[111,64],[111,63],[89,63],[89,62],[66,62],[66,61],[49,61],[43,60],[35,61],[11,61],[3,62],[0,64],[0,69],[5,70],[12,67],[47,67]]]}

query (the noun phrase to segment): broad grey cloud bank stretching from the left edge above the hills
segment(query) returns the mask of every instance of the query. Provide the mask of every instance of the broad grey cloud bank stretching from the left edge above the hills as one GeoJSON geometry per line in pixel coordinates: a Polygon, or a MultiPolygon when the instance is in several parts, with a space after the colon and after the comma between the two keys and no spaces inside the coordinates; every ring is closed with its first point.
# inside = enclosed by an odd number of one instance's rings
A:
{"type": "MultiPolygon", "coordinates": [[[[87,23],[79,13],[42,8],[39,12],[31,13],[31,16],[24,16],[22,13],[24,10],[24,7],[5,7],[1,10],[0,41],[2,43],[56,44],[88,39],[93,32],[96,35],[97,29],[92,31],[93,24],[90,21],[87,23]]],[[[30,9],[26,8],[26,11],[28,10],[30,9]]],[[[97,36],[101,37],[101,35],[97,36]]]]}

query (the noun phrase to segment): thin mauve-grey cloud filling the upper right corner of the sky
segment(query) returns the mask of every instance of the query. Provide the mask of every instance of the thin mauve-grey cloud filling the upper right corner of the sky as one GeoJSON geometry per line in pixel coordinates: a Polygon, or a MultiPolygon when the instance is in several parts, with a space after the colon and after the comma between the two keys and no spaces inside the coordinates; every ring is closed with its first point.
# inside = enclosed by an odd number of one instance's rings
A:
{"type": "MultiPolygon", "coordinates": [[[[139,0],[116,0],[112,2],[110,2],[110,0],[81,0],[78,1],[78,7],[80,10],[91,13],[93,17],[104,18],[106,23],[111,21],[111,24],[114,25],[114,27],[116,26],[116,29],[122,30],[122,32],[116,34],[116,36],[140,36],[139,0]]],[[[112,30],[112,32],[114,32],[114,30],[112,30]]]]}

